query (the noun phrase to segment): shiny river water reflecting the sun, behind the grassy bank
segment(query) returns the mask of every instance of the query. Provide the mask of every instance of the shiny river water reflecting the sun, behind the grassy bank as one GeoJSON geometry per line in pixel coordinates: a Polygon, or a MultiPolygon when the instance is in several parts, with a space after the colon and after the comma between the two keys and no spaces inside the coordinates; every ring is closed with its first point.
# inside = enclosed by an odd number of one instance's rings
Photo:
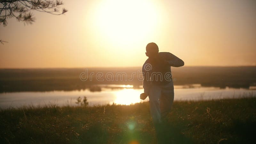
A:
{"type": "MultiPolygon", "coordinates": [[[[99,86],[99,85],[98,85],[99,86]]],[[[86,96],[90,106],[104,104],[129,105],[140,100],[142,86],[133,88],[132,85],[100,85],[99,92],[92,92],[93,89],[80,91],[50,91],[50,92],[7,92],[0,93],[0,107],[21,107],[24,105],[48,105],[76,106],[76,99],[86,96]]],[[[250,89],[220,89],[218,87],[202,87],[200,84],[174,86],[174,100],[211,100],[224,98],[239,98],[255,96],[255,87],[250,89]]]]}

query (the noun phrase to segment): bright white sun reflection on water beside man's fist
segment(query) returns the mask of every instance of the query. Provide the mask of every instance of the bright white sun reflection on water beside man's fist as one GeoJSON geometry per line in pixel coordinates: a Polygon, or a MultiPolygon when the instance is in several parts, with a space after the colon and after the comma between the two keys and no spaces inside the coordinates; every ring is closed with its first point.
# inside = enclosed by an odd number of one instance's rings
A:
{"type": "Polygon", "coordinates": [[[121,105],[130,105],[137,102],[141,102],[140,100],[140,91],[134,90],[134,89],[126,89],[117,91],[116,92],[116,104],[121,105]]]}

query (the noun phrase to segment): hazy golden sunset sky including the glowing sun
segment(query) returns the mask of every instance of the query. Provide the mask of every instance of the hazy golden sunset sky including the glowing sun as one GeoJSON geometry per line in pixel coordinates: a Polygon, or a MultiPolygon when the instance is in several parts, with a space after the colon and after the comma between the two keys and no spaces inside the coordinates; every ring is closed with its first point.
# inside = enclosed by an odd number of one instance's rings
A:
{"type": "Polygon", "coordinates": [[[185,66],[256,65],[255,0],[64,0],[0,25],[0,68],[135,67],[155,42],[185,66]]]}

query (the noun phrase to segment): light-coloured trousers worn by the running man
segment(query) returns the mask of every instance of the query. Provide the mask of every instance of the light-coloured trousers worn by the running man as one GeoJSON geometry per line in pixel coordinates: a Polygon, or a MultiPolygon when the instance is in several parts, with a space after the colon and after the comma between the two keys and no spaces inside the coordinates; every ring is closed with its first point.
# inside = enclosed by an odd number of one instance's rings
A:
{"type": "Polygon", "coordinates": [[[151,84],[149,90],[150,113],[154,123],[161,123],[172,109],[174,88],[171,81],[166,85],[151,84]]]}

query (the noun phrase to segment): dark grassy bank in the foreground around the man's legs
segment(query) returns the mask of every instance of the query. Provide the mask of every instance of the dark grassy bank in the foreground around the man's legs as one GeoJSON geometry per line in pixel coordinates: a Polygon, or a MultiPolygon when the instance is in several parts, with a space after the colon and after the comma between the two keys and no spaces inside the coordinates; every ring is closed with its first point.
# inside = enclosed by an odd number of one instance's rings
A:
{"type": "Polygon", "coordinates": [[[163,133],[149,103],[0,111],[0,143],[255,143],[256,98],[174,101],[163,133]]]}

